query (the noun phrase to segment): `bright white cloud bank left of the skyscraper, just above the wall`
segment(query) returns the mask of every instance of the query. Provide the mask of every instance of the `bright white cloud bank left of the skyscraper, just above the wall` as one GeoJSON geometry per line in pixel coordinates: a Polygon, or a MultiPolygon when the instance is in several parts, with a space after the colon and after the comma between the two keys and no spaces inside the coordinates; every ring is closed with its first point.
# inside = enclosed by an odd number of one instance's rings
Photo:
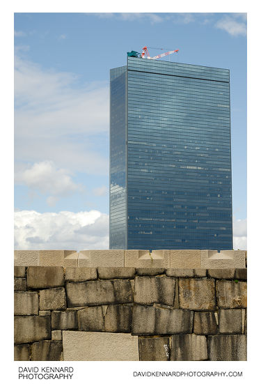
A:
{"type": "Polygon", "coordinates": [[[89,212],[15,212],[15,249],[108,249],[109,215],[89,212]]]}

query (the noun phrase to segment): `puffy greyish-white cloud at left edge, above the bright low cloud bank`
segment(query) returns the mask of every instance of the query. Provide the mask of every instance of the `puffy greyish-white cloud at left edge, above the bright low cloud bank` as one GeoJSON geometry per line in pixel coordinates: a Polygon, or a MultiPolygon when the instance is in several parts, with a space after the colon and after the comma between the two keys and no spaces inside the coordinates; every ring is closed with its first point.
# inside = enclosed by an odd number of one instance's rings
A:
{"type": "Polygon", "coordinates": [[[49,206],[54,206],[59,197],[82,190],[81,185],[72,181],[68,170],[57,169],[52,161],[36,162],[27,169],[20,167],[15,172],[15,183],[49,195],[49,206]]]}

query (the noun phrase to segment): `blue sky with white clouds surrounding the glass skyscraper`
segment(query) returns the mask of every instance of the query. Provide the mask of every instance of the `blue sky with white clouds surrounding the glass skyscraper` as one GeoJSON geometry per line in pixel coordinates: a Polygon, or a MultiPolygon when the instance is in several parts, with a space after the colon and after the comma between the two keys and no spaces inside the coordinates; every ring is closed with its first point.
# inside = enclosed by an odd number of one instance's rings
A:
{"type": "Polygon", "coordinates": [[[109,69],[144,45],[230,69],[234,247],[246,248],[246,14],[16,13],[16,249],[108,247],[109,69]]]}

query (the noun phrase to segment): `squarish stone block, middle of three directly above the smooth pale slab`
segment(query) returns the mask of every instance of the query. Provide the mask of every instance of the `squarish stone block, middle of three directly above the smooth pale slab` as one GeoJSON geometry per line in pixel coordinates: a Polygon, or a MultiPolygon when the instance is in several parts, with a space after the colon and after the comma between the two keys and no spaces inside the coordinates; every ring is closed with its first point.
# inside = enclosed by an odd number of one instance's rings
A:
{"type": "Polygon", "coordinates": [[[104,316],[102,307],[88,307],[78,311],[79,330],[100,331],[104,330],[104,316]]]}

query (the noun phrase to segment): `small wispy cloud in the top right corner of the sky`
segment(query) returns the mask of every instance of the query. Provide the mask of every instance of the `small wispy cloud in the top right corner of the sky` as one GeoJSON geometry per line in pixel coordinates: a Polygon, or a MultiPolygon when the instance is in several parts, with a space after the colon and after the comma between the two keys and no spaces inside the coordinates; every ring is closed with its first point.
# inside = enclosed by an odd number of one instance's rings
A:
{"type": "Polygon", "coordinates": [[[223,29],[228,32],[231,36],[246,36],[246,17],[245,13],[225,15],[216,22],[216,28],[223,29]],[[241,18],[241,21],[238,19],[241,18]]]}

